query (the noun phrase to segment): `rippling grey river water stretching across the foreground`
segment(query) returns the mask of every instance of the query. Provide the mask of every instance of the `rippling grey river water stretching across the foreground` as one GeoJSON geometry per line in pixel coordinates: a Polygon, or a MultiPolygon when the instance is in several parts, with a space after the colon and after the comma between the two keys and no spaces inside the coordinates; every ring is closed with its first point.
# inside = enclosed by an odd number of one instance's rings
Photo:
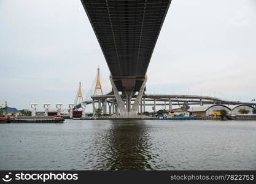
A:
{"type": "Polygon", "coordinates": [[[1,124],[1,170],[256,169],[256,121],[1,124]]]}

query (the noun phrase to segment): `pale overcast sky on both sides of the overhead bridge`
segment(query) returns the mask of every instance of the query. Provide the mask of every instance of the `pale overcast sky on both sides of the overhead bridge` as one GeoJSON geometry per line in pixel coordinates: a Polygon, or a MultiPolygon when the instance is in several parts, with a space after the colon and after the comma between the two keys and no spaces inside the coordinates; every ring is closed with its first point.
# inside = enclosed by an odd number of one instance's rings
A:
{"type": "MultiPolygon", "coordinates": [[[[173,0],[147,71],[148,94],[256,98],[256,1],[173,0]]],[[[109,69],[80,0],[0,0],[0,105],[64,107],[109,69]]]]}

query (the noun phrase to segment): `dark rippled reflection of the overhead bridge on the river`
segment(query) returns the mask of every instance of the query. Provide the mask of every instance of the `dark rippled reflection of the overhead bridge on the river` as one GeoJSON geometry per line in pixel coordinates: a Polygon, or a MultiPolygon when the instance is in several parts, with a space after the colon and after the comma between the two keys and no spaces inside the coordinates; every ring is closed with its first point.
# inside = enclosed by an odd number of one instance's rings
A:
{"type": "Polygon", "coordinates": [[[150,137],[144,121],[121,120],[119,123],[111,121],[111,128],[106,137],[111,159],[111,170],[144,170],[152,169],[149,161],[150,137]]]}

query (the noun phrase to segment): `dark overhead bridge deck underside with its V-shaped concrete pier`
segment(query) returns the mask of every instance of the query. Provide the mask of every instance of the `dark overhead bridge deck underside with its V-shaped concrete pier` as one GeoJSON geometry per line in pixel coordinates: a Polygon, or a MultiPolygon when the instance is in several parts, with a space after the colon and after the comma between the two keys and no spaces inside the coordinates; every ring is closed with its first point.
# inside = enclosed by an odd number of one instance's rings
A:
{"type": "Polygon", "coordinates": [[[144,93],[147,67],[171,0],[81,1],[109,66],[120,112],[135,112],[141,99],[131,108],[130,96],[144,93]],[[118,91],[125,93],[126,107],[118,91]]]}

